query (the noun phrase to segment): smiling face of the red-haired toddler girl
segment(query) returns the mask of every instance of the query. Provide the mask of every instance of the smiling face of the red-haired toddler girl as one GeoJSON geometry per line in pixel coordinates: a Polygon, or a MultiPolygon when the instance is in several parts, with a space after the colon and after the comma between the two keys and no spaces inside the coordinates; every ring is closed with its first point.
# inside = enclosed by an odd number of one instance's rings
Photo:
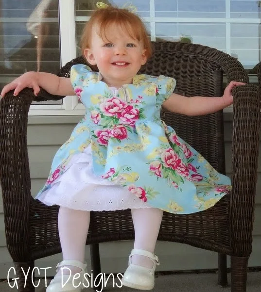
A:
{"type": "Polygon", "coordinates": [[[114,87],[132,83],[140,66],[147,61],[143,44],[117,25],[106,30],[103,38],[94,27],[91,46],[85,49],[85,56],[91,65],[97,65],[104,82],[114,87]]]}

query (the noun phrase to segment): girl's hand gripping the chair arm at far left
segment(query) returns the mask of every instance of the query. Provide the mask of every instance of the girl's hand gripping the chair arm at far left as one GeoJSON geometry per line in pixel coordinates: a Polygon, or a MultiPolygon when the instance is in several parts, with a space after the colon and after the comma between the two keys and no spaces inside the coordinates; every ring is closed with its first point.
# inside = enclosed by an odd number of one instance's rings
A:
{"type": "Polygon", "coordinates": [[[21,90],[26,87],[33,88],[35,96],[39,93],[40,87],[37,81],[37,72],[24,73],[11,83],[5,85],[2,89],[1,97],[4,97],[7,92],[13,89],[15,89],[14,95],[16,96],[21,90]]]}

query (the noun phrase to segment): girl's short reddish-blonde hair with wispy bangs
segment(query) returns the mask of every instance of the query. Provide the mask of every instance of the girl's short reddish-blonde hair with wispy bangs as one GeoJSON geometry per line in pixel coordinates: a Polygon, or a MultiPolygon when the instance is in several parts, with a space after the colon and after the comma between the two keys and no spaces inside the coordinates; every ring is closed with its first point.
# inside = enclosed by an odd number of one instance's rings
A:
{"type": "Polygon", "coordinates": [[[151,41],[146,32],[146,28],[139,18],[139,16],[130,12],[127,9],[108,6],[106,8],[98,9],[90,17],[86,23],[81,38],[81,50],[84,55],[84,50],[90,48],[92,28],[97,25],[98,34],[100,37],[105,36],[105,31],[111,25],[119,25],[122,29],[129,33],[129,35],[143,43],[145,55],[147,58],[152,56],[151,41]]]}

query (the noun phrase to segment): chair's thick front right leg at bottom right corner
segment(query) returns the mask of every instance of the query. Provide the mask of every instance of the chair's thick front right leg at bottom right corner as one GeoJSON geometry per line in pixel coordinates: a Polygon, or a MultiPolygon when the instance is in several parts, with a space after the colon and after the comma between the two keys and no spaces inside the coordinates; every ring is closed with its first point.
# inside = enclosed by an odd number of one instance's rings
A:
{"type": "Polygon", "coordinates": [[[246,292],[248,259],[231,256],[231,292],[246,292]]]}

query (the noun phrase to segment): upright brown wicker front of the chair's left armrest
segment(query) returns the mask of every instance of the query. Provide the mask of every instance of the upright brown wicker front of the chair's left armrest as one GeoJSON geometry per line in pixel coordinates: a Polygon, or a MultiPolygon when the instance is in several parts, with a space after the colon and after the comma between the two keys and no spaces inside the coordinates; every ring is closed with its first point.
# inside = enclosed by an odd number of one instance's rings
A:
{"type": "Polygon", "coordinates": [[[29,88],[17,97],[10,91],[0,100],[0,184],[6,242],[15,261],[30,258],[31,180],[26,135],[32,100],[29,88]]]}

